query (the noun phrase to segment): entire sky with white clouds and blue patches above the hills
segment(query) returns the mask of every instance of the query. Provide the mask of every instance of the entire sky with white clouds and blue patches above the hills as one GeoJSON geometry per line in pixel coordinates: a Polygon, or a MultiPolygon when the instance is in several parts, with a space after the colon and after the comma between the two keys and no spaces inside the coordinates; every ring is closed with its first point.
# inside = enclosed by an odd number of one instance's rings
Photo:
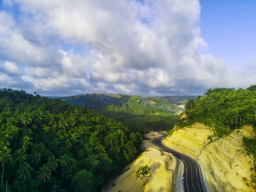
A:
{"type": "Polygon", "coordinates": [[[0,0],[0,88],[198,95],[256,84],[255,0],[0,0]]]}

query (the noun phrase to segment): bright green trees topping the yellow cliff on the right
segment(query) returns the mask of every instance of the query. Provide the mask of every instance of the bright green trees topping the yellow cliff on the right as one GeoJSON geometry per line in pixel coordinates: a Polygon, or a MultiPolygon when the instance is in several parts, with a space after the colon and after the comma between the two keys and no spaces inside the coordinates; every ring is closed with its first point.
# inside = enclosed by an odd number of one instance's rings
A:
{"type": "MultiPolygon", "coordinates": [[[[213,137],[216,138],[224,137],[244,125],[252,125],[256,132],[256,85],[237,90],[209,89],[204,96],[198,96],[197,100],[189,99],[186,114],[187,118],[178,120],[179,127],[195,122],[205,123],[215,128],[213,137]]],[[[256,160],[256,138],[244,137],[244,145],[247,153],[254,155],[256,160]]],[[[252,174],[252,183],[256,184],[255,174],[252,174]]]]}

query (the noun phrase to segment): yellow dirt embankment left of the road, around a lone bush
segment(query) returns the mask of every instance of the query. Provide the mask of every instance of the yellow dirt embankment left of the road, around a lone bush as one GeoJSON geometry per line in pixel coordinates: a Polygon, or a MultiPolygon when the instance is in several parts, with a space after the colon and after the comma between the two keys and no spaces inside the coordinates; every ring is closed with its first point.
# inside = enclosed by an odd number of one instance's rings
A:
{"type": "MultiPolygon", "coordinates": [[[[159,137],[160,134],[149,133],[148,139],[159,137]]],[[[105,191],[132,192],[132,191],[173,191],[173,179],[176,178],[176,159],[170,153],[164,153],[151,143],[143,142],[146,150],[129,164],[123,174],[116,178],[105,191]],[[139,166],[151,166],[151,172],[146,177],[136,179],[135,172],[139,166]]]]}

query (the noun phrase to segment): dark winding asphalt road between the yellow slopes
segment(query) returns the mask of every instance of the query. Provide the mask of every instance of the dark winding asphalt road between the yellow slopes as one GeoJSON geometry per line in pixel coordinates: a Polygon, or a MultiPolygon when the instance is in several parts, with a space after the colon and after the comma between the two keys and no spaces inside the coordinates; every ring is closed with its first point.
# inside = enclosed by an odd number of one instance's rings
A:
{"type": "Polygon", "coordinates": [[[166,145],[162,144],[162,139],[164,139],[164,133],[161,137],[154,139],[154,143],[165,150],[168,153],[172,153],[176,158],[180,159],[184,163],[184,173],[183,173],[183,182],[184,182],[184,191],[185,192],[207,192],[206,186],[203,183],[203,177],[201,174],[200,166],[197,164],[197,161],[184,155],[183,153],[178,153],[176,150],[173,150],[166,145]]]}

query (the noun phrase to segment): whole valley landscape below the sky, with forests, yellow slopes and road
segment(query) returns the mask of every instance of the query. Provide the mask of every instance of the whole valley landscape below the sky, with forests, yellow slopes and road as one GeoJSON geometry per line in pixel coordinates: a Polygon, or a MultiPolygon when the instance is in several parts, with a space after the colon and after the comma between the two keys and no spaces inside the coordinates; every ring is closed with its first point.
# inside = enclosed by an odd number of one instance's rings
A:
{"type": "Polygon", "coordinates": [[[148,96],[65,99],[1,89],[1,189],[255,191],[255,85],[210,89],[185,108],[148,96]]]}

